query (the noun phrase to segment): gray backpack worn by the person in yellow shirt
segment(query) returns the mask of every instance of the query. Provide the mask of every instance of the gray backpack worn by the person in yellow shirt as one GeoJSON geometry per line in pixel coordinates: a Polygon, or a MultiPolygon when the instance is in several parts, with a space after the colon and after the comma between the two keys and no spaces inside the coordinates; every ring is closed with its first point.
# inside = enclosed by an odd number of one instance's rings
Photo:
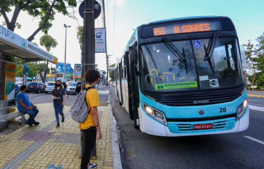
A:
{"type": "Polygon", "coordinates": [[[88,104],[85,99],[86,92],[90,89],[93,89],[93,87],[85,88],[85,90],[82,90],[82,92],[77,94],[74,104],[70,110],[71,118],[79,123],[84,122],[91,111],[91,109],[88,111],[88,104]]]}

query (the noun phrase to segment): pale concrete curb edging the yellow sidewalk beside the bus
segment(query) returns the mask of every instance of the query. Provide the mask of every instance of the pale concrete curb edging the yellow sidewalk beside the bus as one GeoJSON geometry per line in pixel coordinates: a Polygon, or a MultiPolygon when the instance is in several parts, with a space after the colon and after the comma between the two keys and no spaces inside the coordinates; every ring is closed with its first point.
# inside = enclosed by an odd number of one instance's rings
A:
{"type": "MultiPolygon", "coordinates": [[[[110,100],[110,95],[108,95],[108,101],[109,100],[110,100]]],[[[121,163],[121,157],[120,157],[119,145],[118,145],[118,137],[117,137],[115,124],[113,122],[112,109],[109,104],[108,104],[108,115],[109,115],[110,129],[112,135],[113,168],[122,169],[122,163],[121,163]]]]}

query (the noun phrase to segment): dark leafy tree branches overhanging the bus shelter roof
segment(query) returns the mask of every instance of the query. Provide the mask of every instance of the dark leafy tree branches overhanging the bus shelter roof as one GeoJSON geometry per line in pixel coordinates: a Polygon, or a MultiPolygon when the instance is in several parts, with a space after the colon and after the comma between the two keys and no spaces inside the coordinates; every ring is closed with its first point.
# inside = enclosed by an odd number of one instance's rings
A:
{"type": "Polygon", "coordinates": [[[1,0],[0,16],[4,17],[5,24],[11,31],[14,31],[15,28],[21,28],[21,25],[17,23],[17,19],[21,10],[27,12],[34,18],[38,18],[39,28],[36,30],[37,32],[34,32],[32,36],[29,37],[28,40],[31,41],[40,30],[42,30],[42,32],[45,34],[48,33],[56,13],[61,13],[74,18],[72,14],[68,13],[67,8],[76,6],[76,0],[1,0]],[[12,9],[14,8],[15,10],[12,19],[9,20],[7,13],[12,12],[12,9]]]}

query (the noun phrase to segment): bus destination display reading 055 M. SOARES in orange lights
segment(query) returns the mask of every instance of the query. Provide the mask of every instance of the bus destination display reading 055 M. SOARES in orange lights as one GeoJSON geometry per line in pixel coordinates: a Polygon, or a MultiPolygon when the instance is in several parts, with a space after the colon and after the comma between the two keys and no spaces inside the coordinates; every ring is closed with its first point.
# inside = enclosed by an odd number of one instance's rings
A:
{"type": "Polygon", "coordinates": [[[154,36],[221,30],[220,22],[196,22],[153,28],[154,36]]]}

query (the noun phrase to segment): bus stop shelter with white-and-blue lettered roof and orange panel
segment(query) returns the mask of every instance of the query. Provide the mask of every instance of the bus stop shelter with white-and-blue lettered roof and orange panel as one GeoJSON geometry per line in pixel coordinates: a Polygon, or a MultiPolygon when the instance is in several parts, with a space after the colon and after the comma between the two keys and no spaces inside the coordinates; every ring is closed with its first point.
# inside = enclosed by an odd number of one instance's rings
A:
{"type": "MultiPolygon", "coordinates": [[[[0,102],[9,102],[15,99],[16,65],[24,66],[25,68],[27,63],[32,61],[48,61],[54,64],[58,63],[57,57],[2,25],[0,25],[0,52],[24,60],[24,64],[19,64],[0,58],[0,62],[6,63],[5,71],[0,72],[4,73],[5,76],[5,79],[2,79],[4,81],[4,86],[0,86],[0,90],[4,92],[5,101],[0,102]]],[[[26,85],[25,71],[23,77],[24,85],[26,85]]],[[[2,103],[0,103],[0,107],[2,107],[1,105],[2,103]]]]}

